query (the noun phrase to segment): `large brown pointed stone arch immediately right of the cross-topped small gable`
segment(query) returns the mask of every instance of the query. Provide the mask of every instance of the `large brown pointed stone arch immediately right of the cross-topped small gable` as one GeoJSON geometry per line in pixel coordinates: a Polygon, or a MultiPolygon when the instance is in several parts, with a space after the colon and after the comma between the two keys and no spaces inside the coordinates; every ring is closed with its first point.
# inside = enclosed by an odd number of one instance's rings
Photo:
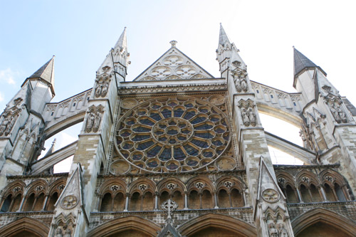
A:
{"type": "Polygon", "coordinates": [[[204,230],[204,228],[215,227],[224,230],[233,231],[240,236],[257,236],[256,227],[249,223],[225,216],[221,214],[205,214],[187,221],[178,228],[182,236],[190,236],[194,233],[204,230]]]}

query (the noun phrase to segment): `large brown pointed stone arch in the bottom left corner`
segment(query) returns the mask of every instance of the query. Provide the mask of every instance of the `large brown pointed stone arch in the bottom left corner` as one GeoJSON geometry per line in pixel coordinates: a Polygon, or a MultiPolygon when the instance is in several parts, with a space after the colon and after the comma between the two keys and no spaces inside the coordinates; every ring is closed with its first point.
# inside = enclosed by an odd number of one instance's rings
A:
{"type": "Polygon", "coordinates": [[[27,231],[36,236],[48,236],[49,228],[41,221],[34,218],[23,217],[0,228],[0,236],[14,236],[27,231]]]}

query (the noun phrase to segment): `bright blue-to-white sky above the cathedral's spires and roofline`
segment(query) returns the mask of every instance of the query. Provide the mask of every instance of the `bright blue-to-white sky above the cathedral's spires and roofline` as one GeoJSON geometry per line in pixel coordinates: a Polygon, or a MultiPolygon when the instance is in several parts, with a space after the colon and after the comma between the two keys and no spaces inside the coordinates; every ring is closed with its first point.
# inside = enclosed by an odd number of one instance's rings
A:
{"type": "MultiPolygon", "coordinates": [[[[356,105],[356,1],[4,1],[0,8],[0,107],[56,55],[53,102],[93,87],[95,71],[127,26],[134,79],[177,47],[219,77],[219,23],[251,80],[295,92],[293,48],[320,65],[356,105]]],[[[51,144],[51,142],[49,142],[51,144]]]]}

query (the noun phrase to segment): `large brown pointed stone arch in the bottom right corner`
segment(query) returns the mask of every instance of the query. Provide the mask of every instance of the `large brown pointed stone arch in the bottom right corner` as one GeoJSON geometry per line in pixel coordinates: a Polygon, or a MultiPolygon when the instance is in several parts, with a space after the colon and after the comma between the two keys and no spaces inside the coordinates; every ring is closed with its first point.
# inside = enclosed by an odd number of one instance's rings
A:
{"type": "Polygon", "coordinates": [[[298,236],[305,228],[313,226],[318,222],[341,229],[350,236],[354,236],[356,233],[356,223],[354,221],[350,221],[345,216],[336,214],[333,211],[318,208],[307,211],[305,214],[291,221],[294,235],[298,236]]]}

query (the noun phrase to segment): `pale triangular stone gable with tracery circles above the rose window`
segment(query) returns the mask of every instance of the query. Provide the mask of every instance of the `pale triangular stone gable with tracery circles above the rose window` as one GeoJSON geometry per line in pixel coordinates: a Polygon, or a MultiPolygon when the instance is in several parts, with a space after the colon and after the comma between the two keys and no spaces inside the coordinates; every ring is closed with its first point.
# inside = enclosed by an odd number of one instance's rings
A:
{"type": "MultiPolygon", "coordinates": [[[[172,41],[171,41],[172,42],[172,41]]],[[[175,47],[159,57],[135,81],[145,80],[188,80],[200,78],[214,78],[210,73],[201,68],[194,60],[186,56],[175,47]]]]}

